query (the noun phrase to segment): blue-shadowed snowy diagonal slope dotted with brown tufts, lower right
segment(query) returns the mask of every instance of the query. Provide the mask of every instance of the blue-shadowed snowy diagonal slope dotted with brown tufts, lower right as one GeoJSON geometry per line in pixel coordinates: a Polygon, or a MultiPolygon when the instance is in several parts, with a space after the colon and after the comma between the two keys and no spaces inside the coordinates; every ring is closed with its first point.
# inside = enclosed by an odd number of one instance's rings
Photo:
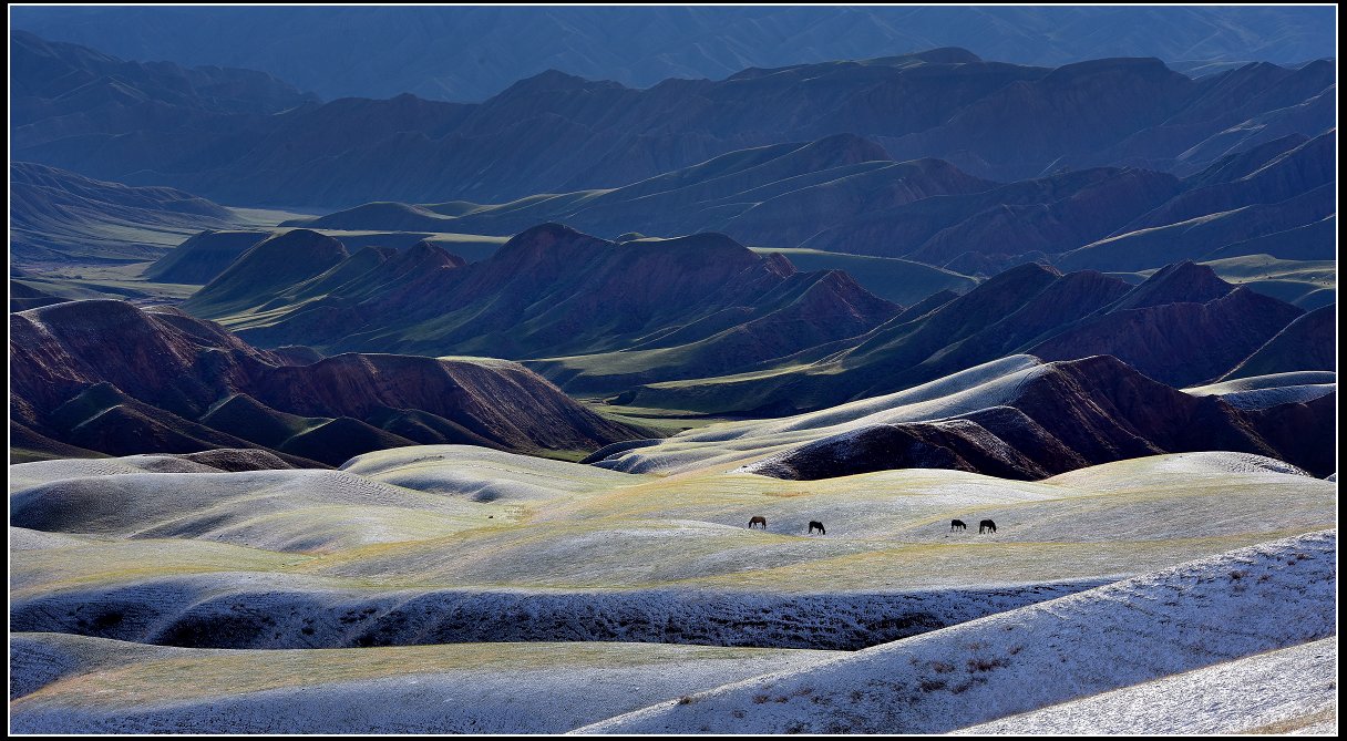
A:
{"type": "Polygon", "coordinates": [[[943,733],[1335,635],[1336,532],[1239,548],[579,729],[943,733]]]}

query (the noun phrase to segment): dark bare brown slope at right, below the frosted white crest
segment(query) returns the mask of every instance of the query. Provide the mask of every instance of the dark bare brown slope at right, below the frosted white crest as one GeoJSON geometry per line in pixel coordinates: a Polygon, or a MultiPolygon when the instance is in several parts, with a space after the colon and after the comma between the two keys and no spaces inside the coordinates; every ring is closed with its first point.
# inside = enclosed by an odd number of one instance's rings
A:
{"type": "Polygon", "coordinates": [[[1241,411],[1192,397],[1109,356],[1044,366],[997,407],[950,419],[876,424],[822,438],[748,466],[777,478],[831,478],[939,468],[1043,478],[1160,453],[1231,450],[1331,472],[1335,396],[1241,411]],[[1307,437],[1289,434],[1303,423],[1307,437]]]}

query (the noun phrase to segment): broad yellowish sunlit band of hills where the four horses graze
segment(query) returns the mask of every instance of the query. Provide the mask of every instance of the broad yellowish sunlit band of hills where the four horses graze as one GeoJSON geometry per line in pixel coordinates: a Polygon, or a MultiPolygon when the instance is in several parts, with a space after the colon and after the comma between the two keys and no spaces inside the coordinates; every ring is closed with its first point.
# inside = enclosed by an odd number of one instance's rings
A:
{"type": "Polygon", "coordinates": [[[195,563],[199,548],[195,571],[267,571],[264,581],[292,581],[300,591],[314,583],[978,587],[1160,569],[1328,527],[1335,507],[1332,482],[1222,453],[1020,482],[932,469],[822,481],[714,470],[652,480],[466,446],[423,449],[432,453],[422,461],[414,450],[366,455],[346,472],[119,473],[35,484],[11,494],[16,525],[113,540],[92,540],[78,554],[15,554],[16,581],[24,600],[48,591],[70,600],[179,577],[182,567],[164,566],[156,550],[195,563]],[[361,470],[368,478],[356,476],[361,470]],[[748,529],[753,516],[768,529],[748,529]],[[985,517],[997,534],[977,535],[985,517]],[[950,532],[951,519],[970,531],[950,532]],[[827,535],[807,535],[811,520],[827,535]],[[225,544],[257,554],[259,563],[210,555],[225,544]]]}

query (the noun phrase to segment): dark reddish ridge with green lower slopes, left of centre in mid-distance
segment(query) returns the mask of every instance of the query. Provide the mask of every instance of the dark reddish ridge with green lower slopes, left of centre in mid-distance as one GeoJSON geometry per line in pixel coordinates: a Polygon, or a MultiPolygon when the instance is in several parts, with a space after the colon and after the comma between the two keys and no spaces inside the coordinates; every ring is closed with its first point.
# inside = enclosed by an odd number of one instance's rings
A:
{"type": "Polygon", "coordinates": [[[333,248],[335,261],[300,268],[292,260],[288,286],[240,291],[252,283],[232,276],[269,275],[286,253],[260,252],[265,244],[183,309],[261,346],[515,358],[617,353],[605,356],[613,361],[606,375],[629,376],[617,383],[731,372],[855,337],[900,309],[846,273],[797,272],[780,255],[714,233],[618,244],[547,224],[470,265],[430,244],[345,260],[333,248]]]}

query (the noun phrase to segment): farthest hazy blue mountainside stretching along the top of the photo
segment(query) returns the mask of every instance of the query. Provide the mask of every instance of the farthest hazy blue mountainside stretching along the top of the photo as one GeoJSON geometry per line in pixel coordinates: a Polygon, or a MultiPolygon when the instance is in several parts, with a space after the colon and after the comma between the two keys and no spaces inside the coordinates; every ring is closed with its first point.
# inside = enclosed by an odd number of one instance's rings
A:
{"type": "Polygon", "coordinates": [[[20,7],[12,22],[132,59],[264,69],[329,98],[475,101],[548,67],[645,88],[950,46],[1043,66],[1335,53],[1329,8],[1288,7],[20,7]]]}

